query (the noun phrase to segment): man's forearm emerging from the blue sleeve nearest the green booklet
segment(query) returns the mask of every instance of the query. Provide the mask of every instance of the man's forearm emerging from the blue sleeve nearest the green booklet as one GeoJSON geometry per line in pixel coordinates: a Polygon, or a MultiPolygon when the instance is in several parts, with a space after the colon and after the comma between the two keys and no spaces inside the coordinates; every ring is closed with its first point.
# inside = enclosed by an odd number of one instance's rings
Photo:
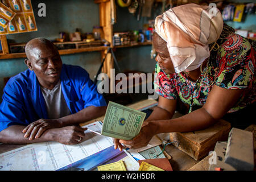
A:
{"type": "Polygon", "coordinates": [[[89,106],[79,112],[60,118],[62,126],[79,125],[80,123],[90,121],[91,119],[101,117],[106,113],[106,106],[89,106]]]}

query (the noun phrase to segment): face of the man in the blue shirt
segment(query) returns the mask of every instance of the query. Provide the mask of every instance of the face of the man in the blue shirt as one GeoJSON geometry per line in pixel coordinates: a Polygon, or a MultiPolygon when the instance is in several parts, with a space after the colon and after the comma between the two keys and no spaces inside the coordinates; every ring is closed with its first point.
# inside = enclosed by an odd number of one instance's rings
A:
{"type": "Polygon", "coordinates": [[[40,85],[52,89],[60,79],[62,61],[52,45],[36,42],[30,49],[28,68],[35,72],[40,85]]]}

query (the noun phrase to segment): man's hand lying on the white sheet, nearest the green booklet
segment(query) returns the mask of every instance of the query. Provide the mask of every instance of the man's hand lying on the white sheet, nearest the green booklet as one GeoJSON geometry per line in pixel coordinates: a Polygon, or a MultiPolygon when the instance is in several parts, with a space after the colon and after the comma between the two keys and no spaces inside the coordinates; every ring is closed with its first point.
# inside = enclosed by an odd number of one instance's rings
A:
{"type": "Polygon", "coordinates": [[[51,129],[48,133],[52,136],[52,140],[62,144],[78,144],[84,138],[84,131],[87,128],[80,126],[66,126],[59,129],[51,129]]]}

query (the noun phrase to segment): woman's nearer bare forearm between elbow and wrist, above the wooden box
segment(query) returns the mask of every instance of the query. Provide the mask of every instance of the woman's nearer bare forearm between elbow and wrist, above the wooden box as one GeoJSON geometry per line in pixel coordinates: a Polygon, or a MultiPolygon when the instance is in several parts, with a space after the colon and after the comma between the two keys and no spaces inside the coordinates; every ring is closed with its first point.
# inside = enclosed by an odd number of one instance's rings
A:
{"type": "Polygon", "coordinates": [[[212,125],[216,120],[204,109],[197,109],[189,114],[175,119],[152,121],[155,133],[189,132],[202,130],[212,125]]]}

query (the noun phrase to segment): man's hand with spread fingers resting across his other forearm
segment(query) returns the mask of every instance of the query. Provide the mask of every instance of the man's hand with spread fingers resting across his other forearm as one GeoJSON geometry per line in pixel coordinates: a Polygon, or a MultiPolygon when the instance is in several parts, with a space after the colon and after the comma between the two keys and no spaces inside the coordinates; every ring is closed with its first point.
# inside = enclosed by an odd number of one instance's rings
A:
{"type": "Polygon", "coordinates": [[[39,119],[38,121],[30,123],[22,130],[25,138],[29,137],[29,140],[39,138],[44,131],[48,129],[55,129],[62,127],[61,123],[57,119],[39,119]]]}

